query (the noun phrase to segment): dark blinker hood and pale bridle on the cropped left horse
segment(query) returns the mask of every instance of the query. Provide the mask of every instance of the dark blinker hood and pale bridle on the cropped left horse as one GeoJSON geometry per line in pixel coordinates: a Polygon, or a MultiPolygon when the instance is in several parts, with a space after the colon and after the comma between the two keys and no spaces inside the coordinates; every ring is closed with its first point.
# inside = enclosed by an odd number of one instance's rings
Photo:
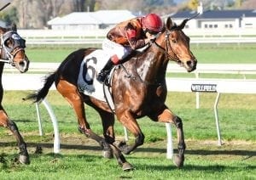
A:
{"type": "Polygon", "coordinates": [[[22,39],[16,31],[6,31],[5,33],[1,34],[0,41],[0,54],[3,53],[3,59],[0,59],[0,62],[8,63],[14,66],[14,58],[16,53],[26,48],[25,40],[22,39]],[[10,48],[6,44],[9,39],[12,39],[14,42],[14,45],[10,48]]]}

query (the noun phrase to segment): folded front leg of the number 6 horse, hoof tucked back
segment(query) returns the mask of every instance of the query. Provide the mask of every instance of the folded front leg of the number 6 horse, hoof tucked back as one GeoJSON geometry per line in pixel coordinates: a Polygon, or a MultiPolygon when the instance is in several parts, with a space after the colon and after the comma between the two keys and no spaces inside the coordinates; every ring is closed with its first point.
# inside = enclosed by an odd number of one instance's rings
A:
{"type": "Polygon", "coordinates": [[[131,115],[129,110],[125,110],[122,113],[116,112],[116,115],[123,126],[125,126],[135,137],[135,142],[131,145],[128,145],[125,142],[114,143],[123,153],[125,153],[125,155],[129,155],[131,151],[138,146],[143,145],[145,137],[137,124],[136,119],[131,115]]]}

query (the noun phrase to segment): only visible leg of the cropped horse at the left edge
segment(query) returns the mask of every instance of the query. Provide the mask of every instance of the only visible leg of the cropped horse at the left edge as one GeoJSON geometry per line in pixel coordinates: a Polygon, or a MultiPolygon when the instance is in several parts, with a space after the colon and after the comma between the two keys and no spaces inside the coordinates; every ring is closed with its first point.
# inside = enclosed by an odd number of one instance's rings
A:
{"type": "Polygon", "coordinates": [[[15,136],[20,149],[19,161],[22,164],[29,164],[29,155],[26,150],[26,143],[20,135],[19,129],[14,121],[9,120],[4,110],[0,110],[0,126],[8,128],[15,136]]]}

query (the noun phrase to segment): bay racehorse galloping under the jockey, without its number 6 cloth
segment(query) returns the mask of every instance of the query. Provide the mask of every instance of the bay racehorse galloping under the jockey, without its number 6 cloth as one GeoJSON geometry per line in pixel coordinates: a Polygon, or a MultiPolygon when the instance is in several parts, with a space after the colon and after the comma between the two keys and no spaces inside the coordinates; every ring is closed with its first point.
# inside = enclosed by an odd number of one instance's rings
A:
{"type": "Polygon", "coordinates": [[[196,68],[197,60],[189,49],[189,37],[182,31],[188,20],[190,19],[176,25],[169,17],[163,31],[143,53],[135,53],[129,61],[119,65],[120,67],[116,66],[113,71],[111,88],[115,115],[134,135],[135,142],[131,145],[115,141],[114,114],[108,102],[79,93],[79,68],[84,57],[96,50],[94,48],[79,49],[69,54],[59,68],[46,78],[44,87],[36,93],[29,94],[25,99],[39,102],[46,97],[49,87],[55,82],[57,91],[67,99],[77,115],[79,131],[100,143],[105,155],[115,155],[123,170],[131,170],[133,167],[122,153],[129,155],[144,142],[143,132],[136,119],[147,115],[152,121],[170,122],[177,127],[178,155],[174,163],[182,167],[186,148],[183,123],[165,104],[166,67],[169,60],[172,60],[188,72],[196,68]],[[93,107],[101,116],[104,138],[90,129],[85,117],[84,103],[93,107]]]}

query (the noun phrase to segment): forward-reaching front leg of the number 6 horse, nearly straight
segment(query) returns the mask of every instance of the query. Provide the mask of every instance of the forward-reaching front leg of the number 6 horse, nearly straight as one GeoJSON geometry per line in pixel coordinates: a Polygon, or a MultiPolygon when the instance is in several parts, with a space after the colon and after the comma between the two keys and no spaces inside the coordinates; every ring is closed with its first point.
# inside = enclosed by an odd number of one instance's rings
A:
{"type": "Polygon", "coordinates": [[[184,150],[186,149],[186,144],[184,141],[184,134],[183,134],[183,122],[180,117],[172,113],[166,105],[156,113],[155,115],[149,115],[149,117],[153,121],[160,121],[160,122],[168,122],[175,125],[177,128],[177,150],[178,155],[174,159],[174,163],[177,167],[182,167],[184,163],[184,150]]]}

